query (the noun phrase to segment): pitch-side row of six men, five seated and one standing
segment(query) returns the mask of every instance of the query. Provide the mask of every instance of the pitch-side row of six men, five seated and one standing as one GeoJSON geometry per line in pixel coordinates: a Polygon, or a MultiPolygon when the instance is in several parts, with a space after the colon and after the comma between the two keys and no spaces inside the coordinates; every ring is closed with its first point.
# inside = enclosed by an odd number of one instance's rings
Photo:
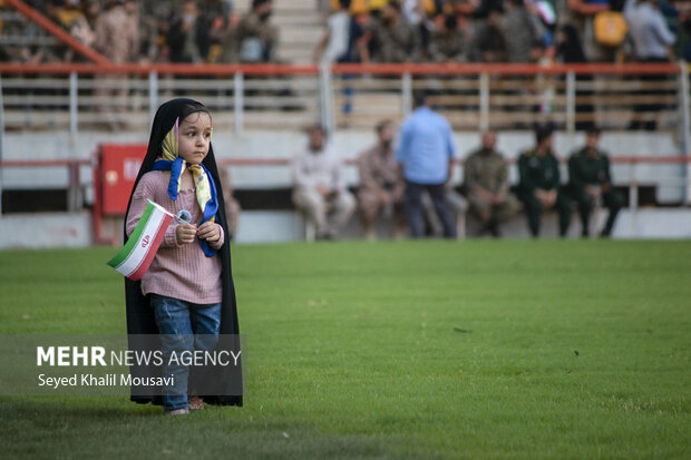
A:
{"type": "Polygon", "coordinates": [[[437,221],[441,236],[456,238],[458,223],[465,223],[457,217],[466,211],[480,223],[480,235],[498,237],[499,225],[515,216],[520,204],[533,237],[539,236],[541,218],[547,209],[558,214],[559,235],[566,236],[574,208],[581,215],[582,236],[588,237],[596,206],[609,211],[600,236],[612,234],[623,197],[613,187],[597,128],[590,128],[585,145],[572,153],[568,180],[563,185],[554,129],[537,127],[535,146],[518,156],[515,195],[508,163],[496,149],[497,134],[484,133],[480,148],[465,160],[463,197],[451,186],[458,157],[450,125],[428,106],[424,95],[416,97],[416,106],[401,124],[396,143],[393,123],[377,125],[376,144],[358,157],[357,199],[346,187],[343,164],[327,143],[323,127],[310,127],[309,141],[293,160],[293,202],[315,226],[318,238],[335,238],[356,211],[368,239],[376,238],[376,222],[382,216],[391,219],[393,237],[401,237],[406,227],[413,238],[434,235],[437,221]]]}

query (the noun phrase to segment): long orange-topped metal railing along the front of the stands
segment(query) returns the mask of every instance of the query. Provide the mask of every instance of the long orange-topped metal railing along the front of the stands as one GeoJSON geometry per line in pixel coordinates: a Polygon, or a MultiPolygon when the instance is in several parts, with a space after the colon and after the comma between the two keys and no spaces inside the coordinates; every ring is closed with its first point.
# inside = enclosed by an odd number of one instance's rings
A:
{"type": "MultiPolygon", "coordinates": [[[[552,105],[552,107],[558,107],[554,112],[541,114],[538,117],[552,117],[555,120],[562,120],[564,126],[568,133],[575,131],[576,123],[578,123],[582,117],[581,114],[576,112],[577,105],[580,104],[593,104],[593,101],[587,102],[584,101],[584,97],[587,96],[577,95],[576,81],[577,77],[581,75],[604,75],[604,76],[642,76],[642,75],[669,75],[675,76],[675,85],[678,87],[678,98],[679,104],[678,107],[680,109],[679,125],[681,127],[680,131],[682,134],[682,146],[680,151],[687,153],[691,151],[691,116],[689,114],[691,104],[690,92],[689,91],[689,66],[685,62],[678,63],[590,63],[590,65],[578,65],[578,63],[570,63],[570,65],[516,65],[516,63],[445,63],[445,65],[435,65],[435,63],[401,63],[401,65],[392,65],[392,63],[368,63],[368,65],[334,65],[334,66],[317,66],[317,65],[239,65],[239,63],[227,63],[227,65],[188,65],[188,63],[152,63],[152,65],[113,65],[113,63],[39,63],[39,65],[27,65],[27,63],[16,63],[16,62],[6,62],[0,63],[0,74],[6,76],[69,76],[67,81],[67,99],[66,96],[46,96],[45,99],[51,101],[51,104],[65,104],[67,102],[69,107],[69,131],[75,137],[77,135],[77,130],[79,127],[79,101],[87,104],[98,104],[97,96],[79,96],[79,76],[101,76],[101,75],[132,75],[132,76],[140,76],[148,79],[148,82],[143,81],[137,84],[139,88],[148,87],[148,116],[153,118],[155,109],[158,105],[158,90],[159,88],[169,89],[169,85],[166,84],[165,79],[160,76],[189,76],[189,77],[199,77],[199,76],[208,76],[208,77],[231,77],[233,76],[232,81],[224,86],[224,88],[232,88],[233,97],[227,97],[223,100],[227,100],[228,106],[232,107],[234,119],[233,124],[235,127],[235,131],[237,134],[243,131],[243,124],[245,119],[245,102],[249,105],[255,105],[256,107],[263,106],[263,101],[256,101],[252,99],[252,96],[247,96],[245,92],[250,89],[250,86],[259,85],[262,82],[261,80],[247,80],[249,76],[256,77],[274,77],[275,79],[286,78],[286,77],[319,77],[315,86],[315,91],[318,91],[319,105],[318,105],[318,116],[322,120],[322,123],[327,126],[327,129],[330,131],[334,130],[337,125],[335,120],[335,110],[334,107],[337,105],[337,99],[334,98],[334,88],[339,88],[342,86],[341,77],[346,78],[346,76],[377,76],[378,78],[393,77],[398,78],[398,90],[399,97],[401,100],[401,115],[407,115],[411,109],[412,104],[412,91],[419,81],[425,81],[425,77],[428,75],[434,76],[477,76],[477,94],[473,96],[473,100],[475,100],[474,106],[475,110],[477,110],[477,116],[474,118],[476,121],[476,126],[478,129],[486,129],[490,126],[490,116],[496,117],[493,119],[499,119],[499,124],[503,124],[503,114],[497,115],[493,108],[497,107],[497,105],[509,104],[507,96],[502,95],[494,97],[490,94],[490,90],[494,91],[494,87],[492,87],[490,78],[493,76],[557,76],[565,77],[564,79],[559,79],[561,94],[552,97],[552,99],[547,102],[552,105]],[[339,76],[339,79],[332,78],[333,76],[339,76]],[[420,78],[420,80],[413,81],[413,77],[420,78]],[[52,99],[50,99],[52,98],[52,99]],[[497,99],[499,98],[499,99],[497,99]],[[502,99],[503,98],[503,99],[502,99]]],[[[262,79],[263,80],[263,79],[262,79]]],[[[379,80],[386,81],[386,80],[379,80]]],[[[393,80],[395,81],[395,80],[393,80]]],[[[273,84],[271,84],[273,85],[273,84]]],[[[581,85],[578,82],[578,85],[581,85]]],[[[207,88],[208,85],[204,86],[207,88]]],[[[10,86],[11,87],[11,86],[10,86]]],[[[60,85],[61,88],[65,88],[65,84],[60,85]]],[[[86,88],[94,87],[91,81],[87,81],[86,88]]],[[[581,90],[585,90],[585,88],[580,87],[581,90]]],[[[673,86],[670,82],[664,86],[665,90],[672,89],[673,86]]],[[[643,88],[642,88],[643,89],[643,88]]],[[[595,90],[595,88],[590,88],[588,90],[595,90]]],[[[388,92],[386,92],[388,94],[388,92]]],[[[40,96],[38,96],[40,97],[40,96]]],[[[303,96],[304,97],[304,96],[303,96]]],[[[309,95],[311,98],[312,95],[309,95]]],[[[672,96],[664,96],[666,100],[669,100],[672,96]]],[[[651,104],[650,98],[644,96],[636,96],[636,104],[651,104]]],[[[270,98],[271,100],[276,100],[276,105],[280,105],[280,98],[270,98]]],[[[526,104],[537,104],[536,100],[538,98],[533,97],[531,99],[525,99],[523,105],[526,104]]],[[[593,97],[591,97],[593,99],[593,97]]],[[[631,98],[629,98],[631,99],[631,98]]],[[[632,105],[631,100],[627,99],[627,104],[632,105]]],[[[9,100],[17,100],[13,96],[9,97],[9,100]]],[[[292,99],[284,99],[286,102],[291,102],[292,99]]],[[[515,100],[515,97],[514,99],[515,100]]],[[[663,98],[660,98],[663,100],[663,98]]],[[[513,102],[512,102],[513,104],[513,102]]],[[[517,104],[517,102],[516,102],[517,104]]],[[[303,116],[313,116],[313,108],[309,108],[304,111],[303,116]]],[[[610,112],[612,114],[612,112],[610,112]]],[[[619,112],[616,114],[619,115],[619,112]]],[[[461,126],[467,126],[467,112],[458,112],[454,114],[459,118],[459,124],[461,126]],[[464,118],[465,117],[465,118],[464,118]],[[463,119],[461,119],[463,118],[463,119]]],[[[621,115],[620,115],[621,116],[621,115]]],[[[98,120],[99,114],[94,114],[90,116],[91,120],[98,120]]],[[[367,119],[367,118],[363,118],[367,119]]],[[[541,118],[542,119],[542,118],[541,118]]],[[[497,121],[495,121],[497,123],[497,121]]],[[[691,165],[688,162],[687,164],[687,177],[691,177],[691,165]]],[[[687,189],[687,202],[691,203],[691,186],[687,189]]]]}

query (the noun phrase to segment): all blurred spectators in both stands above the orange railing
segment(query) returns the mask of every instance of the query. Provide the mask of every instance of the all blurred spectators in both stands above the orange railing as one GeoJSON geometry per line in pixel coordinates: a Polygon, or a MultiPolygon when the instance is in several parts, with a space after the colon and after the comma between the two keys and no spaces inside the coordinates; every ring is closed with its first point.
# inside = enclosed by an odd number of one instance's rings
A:
{"type": "MultiPolygon", "coordinates": [[[[109,58],[113,47],[126,50],[115,57],[127,62],[280,61],[274,0],[253,0],[242,12],[233,0],[28,3],[109,58]]],[[[322,3],[331,14],[315,61],[691,60],[691,14],[668,0],[315,0],[315,8],[322,3]]],[[[3,26],[2,33],[14,32],[3,26]]],[[[0,46],[0,55],[22,62],[85,59],[61,45],[0,46]]]]}

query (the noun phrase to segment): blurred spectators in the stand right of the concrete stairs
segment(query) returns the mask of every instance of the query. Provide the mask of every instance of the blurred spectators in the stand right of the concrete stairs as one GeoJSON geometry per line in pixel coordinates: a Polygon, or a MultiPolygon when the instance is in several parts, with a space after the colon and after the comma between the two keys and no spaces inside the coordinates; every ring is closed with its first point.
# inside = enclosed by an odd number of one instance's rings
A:
{"type": "Polygon", "coordinates": [[[691,58],[691,14],[666,0],[332,0],[314,59],[614,62],[691,58]],[[328,43],[328,45],[327,45],[328,43]],[[328,51],[322,53],[322,49],[328,51]]]}

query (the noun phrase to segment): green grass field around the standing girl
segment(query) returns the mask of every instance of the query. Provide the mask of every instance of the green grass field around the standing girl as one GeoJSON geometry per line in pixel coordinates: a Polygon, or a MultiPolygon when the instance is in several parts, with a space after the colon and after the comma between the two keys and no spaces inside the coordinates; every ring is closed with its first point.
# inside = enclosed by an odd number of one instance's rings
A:
{"type": "MultiPolygon", "coordinates": [[[[0,332],[124,333],[116,248],[0,252],[0,332]]],[[[2,458],[691,458],[691,242],[233,247],[245,407],[0,397],[2,458]]]]}

